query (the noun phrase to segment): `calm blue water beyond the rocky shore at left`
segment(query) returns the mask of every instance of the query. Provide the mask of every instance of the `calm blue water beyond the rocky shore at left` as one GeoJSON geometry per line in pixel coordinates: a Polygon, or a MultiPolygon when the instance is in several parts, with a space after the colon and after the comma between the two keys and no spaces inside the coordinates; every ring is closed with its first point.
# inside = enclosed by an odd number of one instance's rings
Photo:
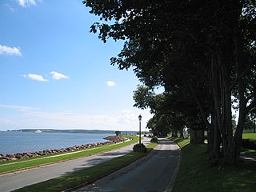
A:
{"type": "Polygon", "coordinates": [[[86,143],[106,142],[111,134],[27,133],[0,131],[0,154],[62,149],[86,143]]]}

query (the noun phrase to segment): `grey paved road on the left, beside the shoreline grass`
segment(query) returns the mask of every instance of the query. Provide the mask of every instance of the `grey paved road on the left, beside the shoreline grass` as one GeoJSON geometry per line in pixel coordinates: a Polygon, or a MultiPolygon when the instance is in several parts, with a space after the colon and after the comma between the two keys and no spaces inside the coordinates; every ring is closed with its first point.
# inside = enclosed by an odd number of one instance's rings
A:
{"type": "MultiPolygon", "coordinates": [[[[149,138],[144,138],[142,142],[148,143],[149,138]]],[[[43,182],[50,178],[57,178],[63,174],[81,170],[86,167],[94,166],[106,162],[112,158],[117,158],[132,151],[131,146],[111,150],[102,154],[95,154],[85,158],[78,158],[68,162],[61,162],[50,166],[40,166],[31,170],[21,171],[15,174],[0,175],[0,191],[7,192],[16,190],[34,183],[43,182]]]]}

